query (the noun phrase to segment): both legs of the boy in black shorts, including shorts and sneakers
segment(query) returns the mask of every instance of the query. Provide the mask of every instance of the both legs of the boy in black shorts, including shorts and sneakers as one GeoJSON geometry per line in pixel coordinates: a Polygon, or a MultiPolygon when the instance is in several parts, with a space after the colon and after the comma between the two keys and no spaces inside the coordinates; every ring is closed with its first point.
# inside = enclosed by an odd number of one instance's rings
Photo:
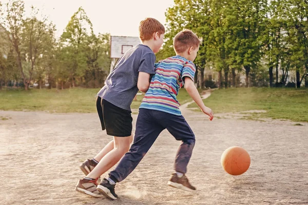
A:
{"type": "Polygon", "coordinates": [[[132,117],[131,112],[121,109],[117,106],[110,104],[105,100],[97,100],[98,113],[101,119],[102,129],[106,129],[107,134],[114,137],[113,145],[109,142],[108,146],[103,149],[99,154],[103,158],[100,162],[95,159],[86,160],[81,166],[81,169],[85,169],[87,173],[86,177],[79,181],[76,185],[76,190],[91,196],[100,197],[93,195],[94,190],[97,188],[97,179],[117,163],[121,157],[129,150],[130,143],[132,141],[132,117]],[[102,101],[100,106],[99,101],[102,101]],[[101,109],[101,112],[100,109],[101,109]],[[113,149],[111,150],[111,148],[113,149]],[[111,151],[110,151],[111,150],[111,151]],[[84,166],[85,165],[85,166],[84,166]],[[89,168],[88,168],[89,167],[89,168]],[[88,172],[90,170],[90,172],[88,172]],[[95,189],[94,189],[95,188],[95,189]]]}

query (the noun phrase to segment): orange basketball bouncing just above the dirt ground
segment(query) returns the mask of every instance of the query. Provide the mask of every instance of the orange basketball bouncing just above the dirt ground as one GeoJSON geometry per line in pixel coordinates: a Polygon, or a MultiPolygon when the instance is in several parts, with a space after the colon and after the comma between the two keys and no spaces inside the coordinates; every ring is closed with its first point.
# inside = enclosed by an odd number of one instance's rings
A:
{"type": "Polygon", "coordinates": [[[240,175],[250,166],[250,156],[241,147],[230,147],[221,155],[221,166],[228,174],[240,175]]]}

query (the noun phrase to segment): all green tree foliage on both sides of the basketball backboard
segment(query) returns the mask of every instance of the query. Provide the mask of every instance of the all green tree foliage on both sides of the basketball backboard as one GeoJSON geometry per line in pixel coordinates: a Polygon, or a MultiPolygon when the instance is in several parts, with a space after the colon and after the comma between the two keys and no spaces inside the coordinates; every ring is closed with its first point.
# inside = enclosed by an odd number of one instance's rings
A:
{"type": "MultiPolygon", "coordinates": [[[[195,60],[201,83],[204,69],[210,68],[219,72],[219,85],[224,81],[226,87],[229,69],[233,86],[243,71],[246,86],[269,81],[271,87],[283,87],[292,83],[290,73],[296,73],[297,87],[303,81],[308,86],[307,7],[301,0],[175,0],[165,13],[165,43],[157,60],[175,55],[174,36],[190,29],[203,39],[195,60]]],[[[26,16],[22,0],[0,4],[0,25],[7,30],[0,26],[0,84],[23,80],[25,85],[46,81],[64,88],[102,86],[110,65],[109,34],[95,35],[79,8],[55,39],[54,25],[39,12],[32,8],[26,16]]]]}

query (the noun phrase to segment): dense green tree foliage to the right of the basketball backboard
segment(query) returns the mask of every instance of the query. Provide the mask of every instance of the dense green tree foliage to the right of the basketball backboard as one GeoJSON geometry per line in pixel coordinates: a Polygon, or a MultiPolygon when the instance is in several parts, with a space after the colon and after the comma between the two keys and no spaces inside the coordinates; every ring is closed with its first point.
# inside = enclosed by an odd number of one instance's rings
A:
{"type": "MultiPolygon", "coordinates": [[[[248,86],[248,79],[255,80],[252,77],[260,68],[264,71],[265,63],[272,73],[276,68],[277,82],[280,78],[285,85],[293,68],[301,73],[301,81],[308,68],[307,7],[299,0],[175,1],[166,12],[166,44],[158,58],[174,54],[172,38],[187,28],[203,38],[195,61],[201,68],[208,64],[219,72],[244,69],[248,86]]],[[[273,75],[269,80],[272,83],[273,75]]]]}

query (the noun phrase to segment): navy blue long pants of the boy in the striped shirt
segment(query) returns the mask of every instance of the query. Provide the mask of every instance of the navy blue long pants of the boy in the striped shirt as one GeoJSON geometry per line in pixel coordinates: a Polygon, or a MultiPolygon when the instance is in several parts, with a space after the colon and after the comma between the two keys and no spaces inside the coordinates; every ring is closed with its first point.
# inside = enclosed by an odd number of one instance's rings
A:
{"type": "Polygon", "coordinates": [[[140,109],[133,145],[117,168],[109,173],[109,177],[115,182],[125,179],[137,167],[164,129],[167,129],[176,140],[182,141],[176,155],[174,169],[177,172],[186,173],[187,164],[195,146],[195,135],[185,118],[166,112],[140,109]]]}

